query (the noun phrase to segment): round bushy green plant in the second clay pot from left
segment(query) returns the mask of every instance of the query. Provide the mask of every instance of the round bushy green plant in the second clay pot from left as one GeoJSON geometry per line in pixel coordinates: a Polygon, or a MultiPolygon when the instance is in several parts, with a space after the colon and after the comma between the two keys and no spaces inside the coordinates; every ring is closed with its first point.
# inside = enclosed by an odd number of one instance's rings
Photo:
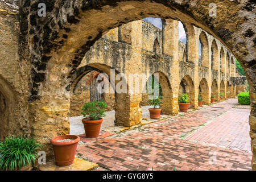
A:
{"type": "Polygon", "coordinates": [[[81,114],[84,115],[84,117],[88,117],[92,121],[95,121],[106,115],[105,108],[106,108],[106,102],[102,100],[86,102],[82,106],[81,114]]]}

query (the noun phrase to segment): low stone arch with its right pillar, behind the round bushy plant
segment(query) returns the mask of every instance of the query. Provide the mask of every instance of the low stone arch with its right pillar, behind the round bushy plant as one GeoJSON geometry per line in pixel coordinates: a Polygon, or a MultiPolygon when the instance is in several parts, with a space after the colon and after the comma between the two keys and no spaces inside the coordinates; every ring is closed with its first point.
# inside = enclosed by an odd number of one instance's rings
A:
{"type": "MultiPolygon", "coordinates": [[[[104,64],[89,64],[85,65],[84,67],[80,67],[77,69],[76,73],[74,74],[72,83],[72,90],[75,85],[77,85],[77,82],[81,80],[84,75],[86,75],[89,72],[97,71],[99,73],[103,73],[105,75],[105,78],[108,78],[109,81],[109,92],[104,93],[105,96],[108,94],[109,97],[115,98],[115,125],[118,126],[131,126],[131,125],[137,125],[141,122],[141,112],[139,112],[140,105],[137,103],[134,105],[133,112],[138,113],[131,113],[130,110],[130,100],[129,100],[129,85],[127,84],[126,77],[122,77],[122,75],[118,75],[118,71],[115,69],[112,69],[108,65],[104,64]],[[123,83],[123,84],[122,84],[123,83]],[[125,86],[125,87],[123,87],[125,86]],[[125,93],[124,93],[125,92],[125,93]],[[135,109],[137,108],[137,110],[135,109]],[[133,114],[133,117],[131,117],[130,114],[133,114]],[[135,118],[134,118],[135,117],[135,118]]],[[[141,101],[141,100],[139,100],[141,101]]]]}

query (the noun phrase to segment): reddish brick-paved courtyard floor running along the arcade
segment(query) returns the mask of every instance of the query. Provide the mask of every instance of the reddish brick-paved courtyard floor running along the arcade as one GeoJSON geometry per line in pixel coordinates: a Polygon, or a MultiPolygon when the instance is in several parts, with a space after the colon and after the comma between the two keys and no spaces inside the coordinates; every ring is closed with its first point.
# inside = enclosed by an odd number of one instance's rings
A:
{"type": "Polygon", "coordinates": [[[229,99],[109,137],[84,140],[76,155],[97,163],[99,170],[250,170],[250,110],[234,105],[237,99],[229,99]]]}

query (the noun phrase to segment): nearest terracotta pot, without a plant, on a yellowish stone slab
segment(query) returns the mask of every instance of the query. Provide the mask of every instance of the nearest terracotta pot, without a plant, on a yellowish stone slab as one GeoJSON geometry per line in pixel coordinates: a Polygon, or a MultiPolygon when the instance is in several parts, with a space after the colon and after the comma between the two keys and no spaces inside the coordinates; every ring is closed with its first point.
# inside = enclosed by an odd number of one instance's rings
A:
{"type": "Polygon", "coordinates": [[[51,139],[53,151],[55,155],[55,163],[57,166],[69,166],[73,164],[77,143],[80,137],[77,135],[61,135],[51,139]],[[58,142],[58,140],[72,139],[68,142],[58,142]]]}

